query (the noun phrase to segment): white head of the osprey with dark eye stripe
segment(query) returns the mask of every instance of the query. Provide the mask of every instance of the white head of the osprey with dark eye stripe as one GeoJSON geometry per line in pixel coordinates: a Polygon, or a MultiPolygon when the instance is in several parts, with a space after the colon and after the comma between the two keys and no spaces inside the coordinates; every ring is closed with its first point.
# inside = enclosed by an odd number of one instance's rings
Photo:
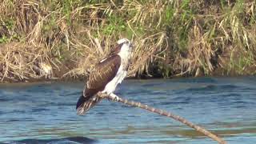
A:
{"type": "Polygon", "coordinates": [[[132,48],[134,47],[132,42],[127,38],[118,40],[118,45],[112,50],[112,54],[118,54],[121,57],[130,57],[132,48]]]}

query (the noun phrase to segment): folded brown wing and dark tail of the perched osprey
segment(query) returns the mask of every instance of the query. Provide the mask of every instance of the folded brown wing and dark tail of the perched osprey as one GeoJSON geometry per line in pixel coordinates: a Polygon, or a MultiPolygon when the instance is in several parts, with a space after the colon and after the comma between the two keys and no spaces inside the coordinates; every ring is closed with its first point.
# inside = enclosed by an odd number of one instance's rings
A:
{"type": "Polygon", "coordinates": [[[95,66],[95,70],[90,73],[82,96],[78,99],[78,114],[83,114],[102,100],[97,93],[104,90],[106,84],[114,78],[120,65],[121,58],[119,55],[114,55],[95,66]]]}

